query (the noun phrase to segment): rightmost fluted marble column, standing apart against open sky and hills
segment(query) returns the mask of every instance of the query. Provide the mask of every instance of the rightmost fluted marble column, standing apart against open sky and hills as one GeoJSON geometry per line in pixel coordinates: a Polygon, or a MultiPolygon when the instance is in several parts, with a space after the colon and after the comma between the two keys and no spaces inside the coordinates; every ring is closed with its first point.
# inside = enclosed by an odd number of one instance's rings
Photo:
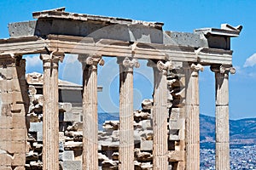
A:
{"type": "Polygon", "coordinates": [[[229,125],[229,72],[236,70],[230,66],[212,65],[215,72],[216,88],[216,169],[230,169],[230,125],[229,125]]]}

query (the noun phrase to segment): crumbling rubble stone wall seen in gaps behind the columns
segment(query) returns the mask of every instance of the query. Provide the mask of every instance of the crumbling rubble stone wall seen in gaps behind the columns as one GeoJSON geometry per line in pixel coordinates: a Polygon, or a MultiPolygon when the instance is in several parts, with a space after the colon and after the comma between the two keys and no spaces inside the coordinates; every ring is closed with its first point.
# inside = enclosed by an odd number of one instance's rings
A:
{"type": "MultiPolygon", "coordinates": [[[[182,71],[179,71],[179,76],[182,71]]],[[[169,116],[169,159],[172,166],[182,167],[180,150],[184,150],[184,105],[183,77],[177,78],[173,72],[167,77],[167,87],[170,92],[168,97],[169,116]],[[175,158],[177,156],[177,159],[175,158]],[[178,160],[178,161],[177,161],[178,160]]],[[[43,150],[43,99],[42,94],[37,94],[37,89],[29,86],[30,107],[27,118],[30,122],[28,130],[29,152],[26,153],[26,169],[42,169],[43,150]]],[[[153,169],[153,126],[152,109],[153,99],[144,99],[141,111],[134,111],[134,156],[135,169],[153,169]]],[[[59,161],[62,169],[82,169],[83,152],[83,122],[82,111],[73,107],[71,103],[59,103],[59,161]]],[[[98,132],[98,161],[99,169],[119,168],[119,121],[106,121],[103,130],[98,132]]]]}

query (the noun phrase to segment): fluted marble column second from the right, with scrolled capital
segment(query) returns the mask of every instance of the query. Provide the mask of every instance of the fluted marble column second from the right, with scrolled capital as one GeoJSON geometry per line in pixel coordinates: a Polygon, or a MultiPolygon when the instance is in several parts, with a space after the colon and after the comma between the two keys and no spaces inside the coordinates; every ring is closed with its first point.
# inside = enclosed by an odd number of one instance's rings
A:
{"type": "Polygon", "coordinates": [[[200,122],[198,74],[200,64],[190,64],[186,76],[186,169],[200,169],[200,122]]]}

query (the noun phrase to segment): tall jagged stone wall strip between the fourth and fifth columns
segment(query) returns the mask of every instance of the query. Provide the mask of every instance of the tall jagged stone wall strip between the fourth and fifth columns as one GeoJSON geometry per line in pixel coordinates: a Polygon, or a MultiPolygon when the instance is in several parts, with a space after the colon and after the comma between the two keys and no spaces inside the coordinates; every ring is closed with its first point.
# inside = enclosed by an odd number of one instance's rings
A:
{"type": "Polygon", "coordinates": [[[183,64],[170,71],[169,89],[169,161],[172,169],[185,169],[185,74],[183,64]]]}

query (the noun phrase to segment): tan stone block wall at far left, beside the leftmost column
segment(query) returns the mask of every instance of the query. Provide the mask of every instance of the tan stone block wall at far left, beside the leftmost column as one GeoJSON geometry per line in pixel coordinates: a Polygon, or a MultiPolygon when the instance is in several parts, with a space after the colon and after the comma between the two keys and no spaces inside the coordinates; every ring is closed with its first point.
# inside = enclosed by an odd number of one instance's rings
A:
{"type": "Polygon", "coordinates": [[[29,105],[25,59],[0,59],[0,169],[25,169],[29,105]]]}

